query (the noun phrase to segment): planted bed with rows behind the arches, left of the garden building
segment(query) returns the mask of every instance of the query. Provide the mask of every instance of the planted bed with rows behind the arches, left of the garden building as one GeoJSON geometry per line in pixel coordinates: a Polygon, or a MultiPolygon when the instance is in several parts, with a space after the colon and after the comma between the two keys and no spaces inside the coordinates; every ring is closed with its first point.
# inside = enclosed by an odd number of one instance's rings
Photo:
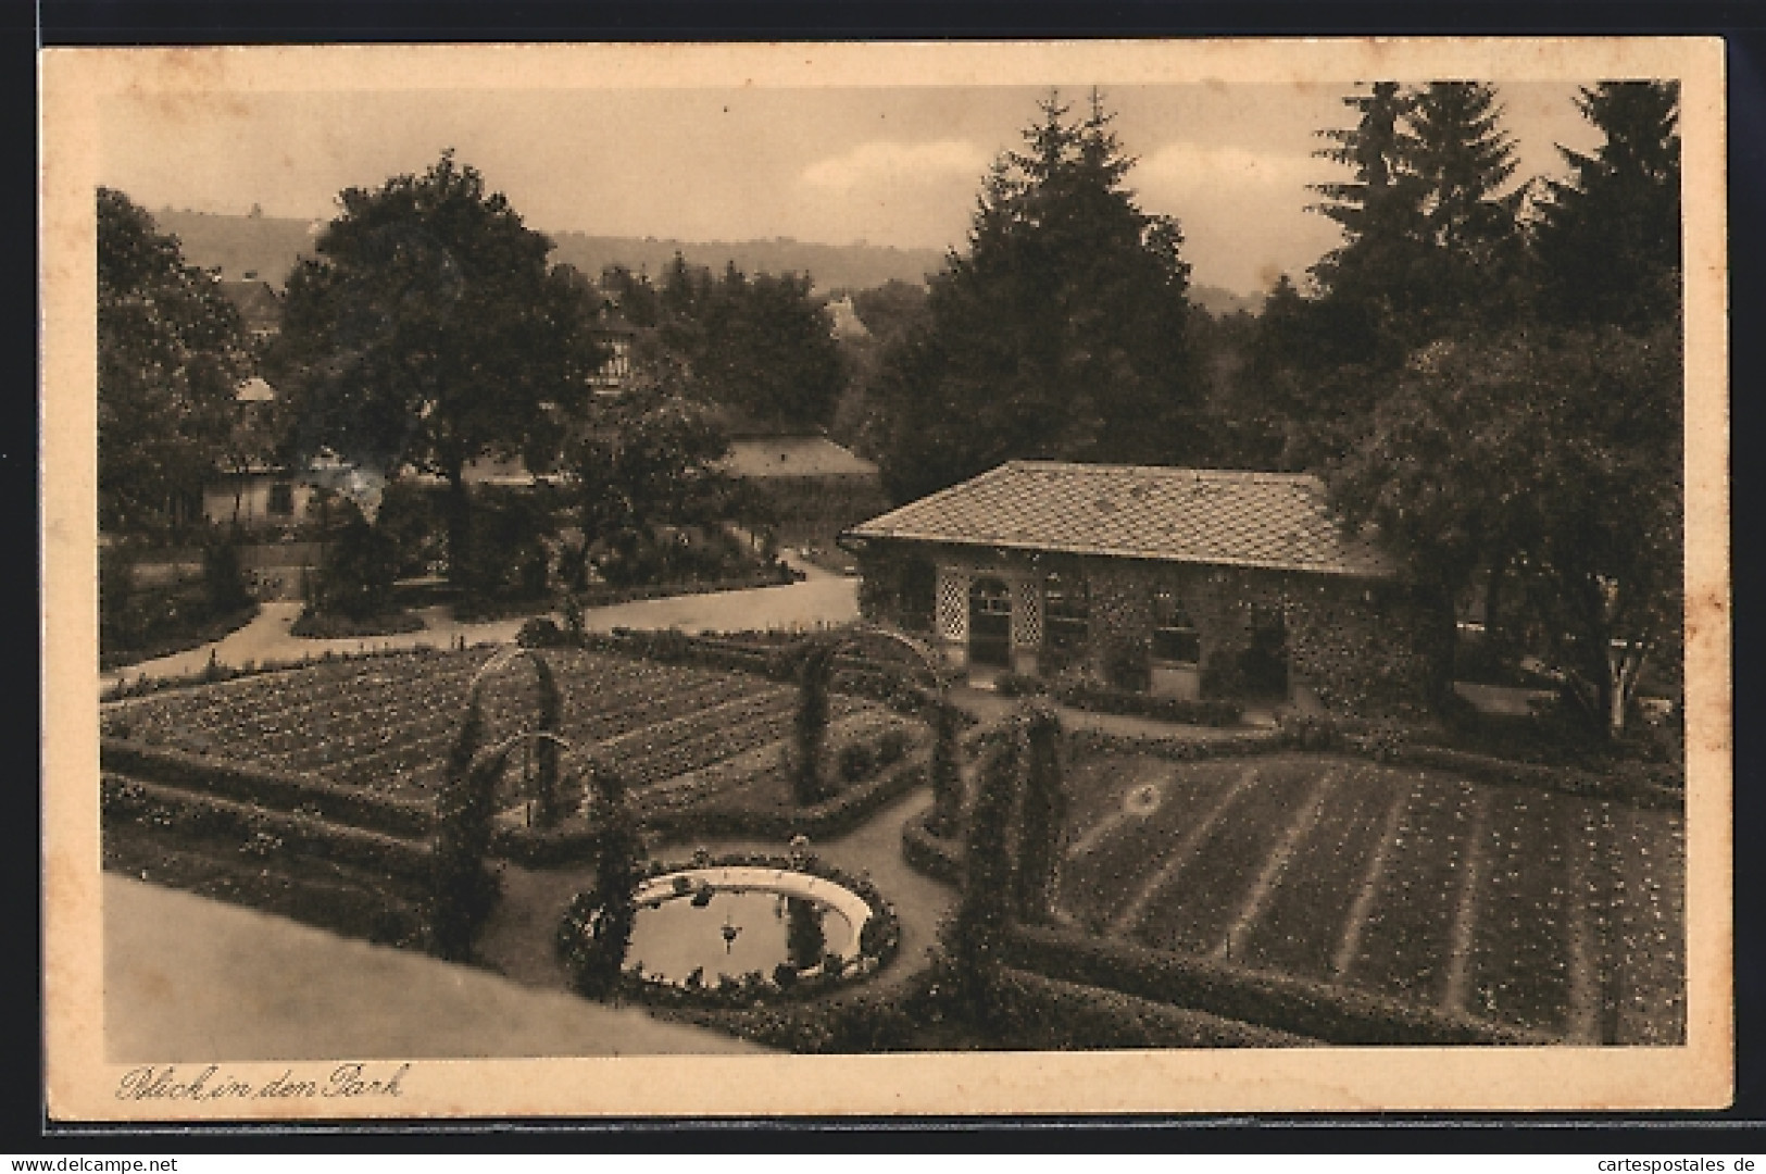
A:
{"type": "MultiPolygon", "coordinates": [[[[104,708],[106,736],[433,798],[466,692],[493,650],[404,651],[198,685],[104,708]]],[[[562,734],[616,766],[639,807],[694,801],[777,773],[796,690],[749,673],[549,650],[562,734]]],[[[487,678],[484,743],[537,727],[530,666],[487,678]]],[[[881,704],[835,696],[830,745],[908,726],[881,704]]]]}

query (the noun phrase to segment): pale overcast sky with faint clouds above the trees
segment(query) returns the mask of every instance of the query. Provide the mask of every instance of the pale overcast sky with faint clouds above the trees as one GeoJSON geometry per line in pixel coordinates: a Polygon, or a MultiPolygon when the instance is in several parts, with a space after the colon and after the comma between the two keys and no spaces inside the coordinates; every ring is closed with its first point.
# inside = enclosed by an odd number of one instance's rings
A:
{"type": "MultiPolygon", "coordinates": [[[[1337,244],[1307,212],[1316,131],[1349,125],[1353,85],[1106,90],[1143,208],[1176,215],[1194,281],[1240,293],[1300,275],[1337,244]]],[[[1021,143],[1044,90],[1017,87],[327,92],[104,108],[101,182],[148,208],[328,219],[344,187],[422,171],[443,147],[539,230],[616,237],[795,237],[962,245],[989,161],[1021,143]]],[[[1519,177],[1588,148],[1566,83],[1501,87],[1519,177]]],[[[1083,92],[1063,92],[1083,102],[1083,92]]],[[[1519,178],[1517,177],[1517,178],[1519,178]]]]}

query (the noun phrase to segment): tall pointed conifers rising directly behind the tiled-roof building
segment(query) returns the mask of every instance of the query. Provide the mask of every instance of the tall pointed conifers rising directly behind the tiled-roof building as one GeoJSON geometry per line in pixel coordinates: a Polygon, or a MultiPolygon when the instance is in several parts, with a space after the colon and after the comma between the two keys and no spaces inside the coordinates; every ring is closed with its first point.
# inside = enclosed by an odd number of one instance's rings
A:
{"type": "Polygon", "coordinates": [[[1189,265],[1143,212],[1102,99],[1058,95],[982,185],[968,252],[885,358],[879,457],[897,498],[1012,457],[1181,463],[1201,450],[1189,265]]]}

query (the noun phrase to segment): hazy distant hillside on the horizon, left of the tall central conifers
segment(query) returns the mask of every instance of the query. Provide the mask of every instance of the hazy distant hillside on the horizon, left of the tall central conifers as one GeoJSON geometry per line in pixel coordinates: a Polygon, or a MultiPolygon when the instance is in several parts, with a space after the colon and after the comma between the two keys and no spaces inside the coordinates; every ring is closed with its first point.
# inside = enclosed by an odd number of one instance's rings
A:
{"type": "MultiPolygon", "coordinates": [[[[164,233],[184,242],[192,265],[219,268],[223,277],[249,272],[281,288],[302,252],[313,249],[313,226],[254,215],[210,215],[154,208],[164,233]]],[[[819,245],[804,240],[691,242],[636,237],[590,237],[547,233],[558,247],[553,261],[569,261],[590,275],[608,265],[625,265],[652,277],[680,252],[692,265],[722,270],[729,261],[747,274],[809,274],[818,290],[871,290],[890,279],[920,281],[938,272],[945,254],[938,249],[890,249],[883,245],[819,245]]]]}

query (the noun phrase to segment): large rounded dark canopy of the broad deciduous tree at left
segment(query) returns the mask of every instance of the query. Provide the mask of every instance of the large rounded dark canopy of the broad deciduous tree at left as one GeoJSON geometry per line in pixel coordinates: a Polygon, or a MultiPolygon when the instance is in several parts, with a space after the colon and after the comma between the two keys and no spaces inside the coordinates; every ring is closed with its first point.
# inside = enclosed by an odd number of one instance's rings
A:
{"type": "Polygon", "coordinates": [[[339,203],[288,275],[270,357],[300,448],[456,484],[473,457],[553,455],[599,353],[593,305],[547,268],[551,242],[452,152],[339,203]]]}

